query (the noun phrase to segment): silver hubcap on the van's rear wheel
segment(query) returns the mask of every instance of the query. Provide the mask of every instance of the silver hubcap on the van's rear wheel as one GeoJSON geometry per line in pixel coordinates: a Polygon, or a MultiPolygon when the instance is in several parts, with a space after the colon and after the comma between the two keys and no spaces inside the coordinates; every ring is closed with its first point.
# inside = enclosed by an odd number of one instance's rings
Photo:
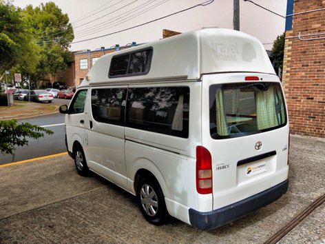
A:
{"type": "Polygon", "coordinates": [[[149,216],[155,216],[158,211],[158,198],[150,185],[143,185],[140,190],[140,200],[143,209],[149,216]]]}

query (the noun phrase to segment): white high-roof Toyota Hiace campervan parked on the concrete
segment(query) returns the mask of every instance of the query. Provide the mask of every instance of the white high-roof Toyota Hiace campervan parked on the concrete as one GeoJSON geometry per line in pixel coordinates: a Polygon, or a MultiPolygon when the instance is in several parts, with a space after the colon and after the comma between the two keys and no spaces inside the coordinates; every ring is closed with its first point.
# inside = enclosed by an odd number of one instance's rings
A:
{"type": "Polygon", "coordinates": [[[205,28],[107,54],[60,111],[78,173],[136,195],[150,223],[218,227],[289,185],[282,85],[242,32],[205,28]]]}

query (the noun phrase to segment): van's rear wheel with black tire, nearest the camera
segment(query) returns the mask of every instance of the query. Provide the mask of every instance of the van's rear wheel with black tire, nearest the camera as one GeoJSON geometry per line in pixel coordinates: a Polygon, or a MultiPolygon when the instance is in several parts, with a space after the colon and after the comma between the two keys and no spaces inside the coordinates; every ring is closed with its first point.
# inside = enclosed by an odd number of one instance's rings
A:
{"type": "Polygon", "coordinates": [[[145,219],[154,225],[162,225],[167,220],[165,197],[154,177],[143,177],[138,182],[136,198],[145,219]]]}

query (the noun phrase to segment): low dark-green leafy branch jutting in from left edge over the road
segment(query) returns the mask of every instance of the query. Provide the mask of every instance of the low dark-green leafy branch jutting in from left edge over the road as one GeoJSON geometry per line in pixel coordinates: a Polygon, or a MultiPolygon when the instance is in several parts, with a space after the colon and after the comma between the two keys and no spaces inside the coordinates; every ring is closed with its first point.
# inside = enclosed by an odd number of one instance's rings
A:
{"type": "Polygon", "coordinates": [[[28,145],[28,139],[39,139],[46,134],[53,134],[51,130],[31,125],[30,123],[17,124],[17,120],[0,121],[0,150],[2,154],[14,154],[15,146],[28,145]]]}

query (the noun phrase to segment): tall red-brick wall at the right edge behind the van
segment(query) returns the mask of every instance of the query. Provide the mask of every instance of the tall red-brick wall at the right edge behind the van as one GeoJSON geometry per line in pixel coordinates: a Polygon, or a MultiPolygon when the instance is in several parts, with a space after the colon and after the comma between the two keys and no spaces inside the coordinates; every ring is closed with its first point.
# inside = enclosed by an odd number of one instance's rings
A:
{"type": "Polygon", "coordinates": [[[283,83],[291,133],[325,138],[325,1],[294,0],[283,83]]]}

